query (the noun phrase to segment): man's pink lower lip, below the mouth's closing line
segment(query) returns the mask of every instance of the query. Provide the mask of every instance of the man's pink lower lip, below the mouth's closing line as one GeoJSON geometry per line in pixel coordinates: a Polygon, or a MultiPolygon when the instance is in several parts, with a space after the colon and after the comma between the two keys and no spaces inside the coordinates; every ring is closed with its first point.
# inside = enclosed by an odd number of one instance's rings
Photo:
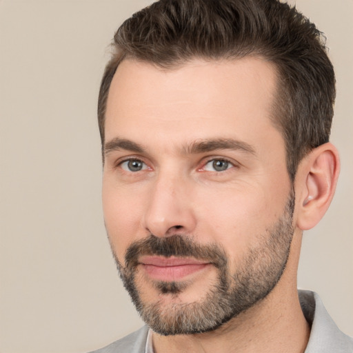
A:
{"type": "Polygon", "coordinates": [[[175,266],[155,266],[141,264],[145,272],[150,278],[159,281],[178,281],[190,274],[199,272],[208,266],[210,263],[195,263],[175,266]]]}

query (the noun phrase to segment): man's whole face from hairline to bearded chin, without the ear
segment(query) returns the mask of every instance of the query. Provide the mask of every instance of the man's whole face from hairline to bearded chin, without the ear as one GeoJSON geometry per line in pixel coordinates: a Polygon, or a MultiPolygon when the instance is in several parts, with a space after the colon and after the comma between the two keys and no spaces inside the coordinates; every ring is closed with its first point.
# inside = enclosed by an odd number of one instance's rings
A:
{"type": "Polygon", "coordinates": [[[105,121],[103,210],[125,287],[161,334],[256,305],[290,252],[294,194],[261,59],[123,61],[105,121]]]}

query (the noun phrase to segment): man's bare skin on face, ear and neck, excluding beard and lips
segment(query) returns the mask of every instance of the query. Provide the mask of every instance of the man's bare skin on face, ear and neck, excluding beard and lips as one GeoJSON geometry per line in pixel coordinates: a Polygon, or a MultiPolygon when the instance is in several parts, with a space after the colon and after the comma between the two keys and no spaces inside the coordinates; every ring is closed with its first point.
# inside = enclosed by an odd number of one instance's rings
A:
{"type": "MultiPolygon", "coordinates": [[[[283,214],[290,194],[285,144],[270,119],[275,94],[274,67],[259,58],[194,60],[174,70],[132,60],[119,65],[105,120],[103,211],[121,265],[128,246],[151,233],[186,234],[201,244],[219,244],[230,271],[236,269],[260,234],[283,214]],[[121,145],[121,139],[139,150],[121,145]],[[218,139],[237,141],[238,148],[190,148],[218,139]],[[143,169],[131,172],[127,159],[139,159],[143,169]],[[214,159],[229,161],[229,168],[217,172],[214,159]]],[[[338,170],[331,144],[301,163],[287,267],[263,301],[214,332],[154,333],[155,352],[304,352],[310,328],[296,291],[302,230],[325,213],[338,170]]],[[[216,270],[205,266],[187,279],[181,293],[161,296],[148,272],[138,268],[146,303],[156,298],[165,305],[202,300],[216,270]]]]}

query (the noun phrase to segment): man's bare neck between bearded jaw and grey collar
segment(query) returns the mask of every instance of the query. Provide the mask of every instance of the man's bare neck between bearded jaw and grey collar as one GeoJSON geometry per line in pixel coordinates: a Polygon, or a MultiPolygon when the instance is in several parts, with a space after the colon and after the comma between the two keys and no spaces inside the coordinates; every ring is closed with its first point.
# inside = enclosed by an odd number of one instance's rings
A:
{"type": "Polygon", "coordinates": [[[153,334],[155,353],[302,353],[309,339],[298,294],[274,298],[276,289],[219,329],[203,334],[160,336],[153,334]]]}

